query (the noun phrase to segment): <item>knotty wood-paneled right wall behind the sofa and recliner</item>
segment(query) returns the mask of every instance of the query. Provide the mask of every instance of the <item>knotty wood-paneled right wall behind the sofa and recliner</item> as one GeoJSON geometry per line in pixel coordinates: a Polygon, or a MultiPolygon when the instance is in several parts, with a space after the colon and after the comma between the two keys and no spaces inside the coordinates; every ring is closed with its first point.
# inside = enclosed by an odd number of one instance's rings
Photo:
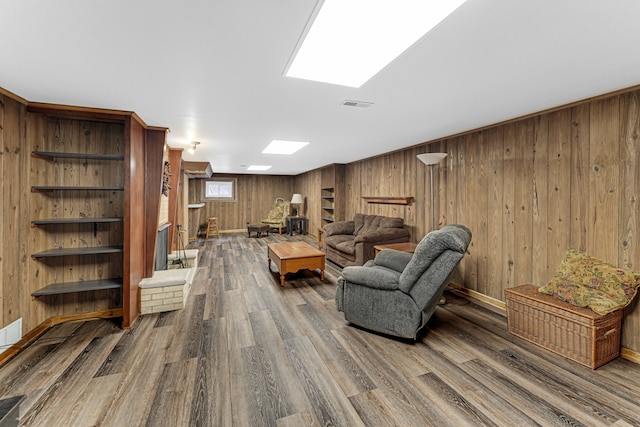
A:
{"type": "MultiPolygon", "coordinates": [[[[639,128],[636,89],[353,162],[347,218],[401,216],[419,241],[431,207],[429,171],[415,156],[444,151],[434,170],[437,227],[462,223],[473,232],[454,282],[504,301],[505,289],[548,282],[568,247],[640,271],[639,128]],[[362,199],[390,195],[414,202],[362,199]]],[[[640,351],[637,305],[627,310],[622,343],[640,351]]]]}

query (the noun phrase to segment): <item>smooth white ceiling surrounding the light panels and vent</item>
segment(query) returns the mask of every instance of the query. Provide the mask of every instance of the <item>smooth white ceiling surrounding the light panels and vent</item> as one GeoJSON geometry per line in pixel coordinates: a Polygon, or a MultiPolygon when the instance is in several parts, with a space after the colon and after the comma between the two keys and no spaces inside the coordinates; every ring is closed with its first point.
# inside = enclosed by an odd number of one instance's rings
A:
{"type": "Polygon", "coordinates": [[[468,0],[359,89],[283,76],[315,3],[2,1],[0,87],[135,111],[214,172],[298,174],[640,84],[638,0],[468,0]]]}

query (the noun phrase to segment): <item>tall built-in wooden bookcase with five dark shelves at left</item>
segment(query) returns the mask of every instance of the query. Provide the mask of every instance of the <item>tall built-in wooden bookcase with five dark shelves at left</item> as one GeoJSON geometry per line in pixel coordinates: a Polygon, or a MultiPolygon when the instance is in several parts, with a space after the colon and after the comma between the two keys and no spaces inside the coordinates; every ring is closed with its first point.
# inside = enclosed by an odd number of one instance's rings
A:
{"type": "Polygon", "coordinates": [[[121,316],[129,328],[138,284],[153,274],[166,129],[131,112],[27,111],[32,298],[61,316],[121,316]]]}

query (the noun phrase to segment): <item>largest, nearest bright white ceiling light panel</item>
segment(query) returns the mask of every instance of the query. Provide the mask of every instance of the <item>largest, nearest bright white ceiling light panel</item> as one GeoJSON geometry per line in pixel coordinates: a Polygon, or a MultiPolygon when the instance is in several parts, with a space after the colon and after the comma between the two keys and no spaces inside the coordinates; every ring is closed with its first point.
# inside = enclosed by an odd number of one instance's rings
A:
{"type": "Polygon", "coordinates": [[[285,75],[360,87],[464,1],[318,1],[285,75]]]}

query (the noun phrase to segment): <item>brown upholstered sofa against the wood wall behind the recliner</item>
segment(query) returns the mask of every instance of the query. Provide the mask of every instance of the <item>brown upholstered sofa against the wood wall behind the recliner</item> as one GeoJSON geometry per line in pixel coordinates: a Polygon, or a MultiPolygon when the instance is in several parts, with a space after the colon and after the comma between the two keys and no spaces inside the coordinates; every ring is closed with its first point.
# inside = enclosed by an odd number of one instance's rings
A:
{"type": "Polygon", "coordinates": [[[409,241],[402,218],[357,213],[353,221],[337,221],[322,228],[326,258],[341,267],[363,265],[373,259],[375,245],[409,241]]]}

